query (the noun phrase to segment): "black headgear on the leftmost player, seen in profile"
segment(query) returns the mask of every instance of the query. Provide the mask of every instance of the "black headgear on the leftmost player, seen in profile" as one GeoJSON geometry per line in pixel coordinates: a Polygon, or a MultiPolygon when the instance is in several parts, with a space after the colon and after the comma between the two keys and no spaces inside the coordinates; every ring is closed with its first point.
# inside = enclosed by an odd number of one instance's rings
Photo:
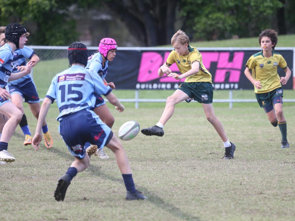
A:
{"type": "Polygon", "coordinates": [[[12,42],[19,48],[19,38],[22,34],[27,33],[27,30],[19,23],[11,23],[6,26],[5,38],[7,41],[12,42]]]}

